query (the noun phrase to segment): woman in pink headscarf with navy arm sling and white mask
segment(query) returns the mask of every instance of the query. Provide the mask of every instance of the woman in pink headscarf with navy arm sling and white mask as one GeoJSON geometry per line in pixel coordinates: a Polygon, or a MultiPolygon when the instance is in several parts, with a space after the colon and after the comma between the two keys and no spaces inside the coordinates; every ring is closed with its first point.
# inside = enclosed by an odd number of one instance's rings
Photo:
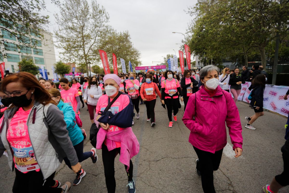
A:
{"type": "MultiPolygon", "coordinates": [[[[131,160],[123,160],[123,157],[128,158],[138,154],[139,143],[136,136],[132,132],[131,127],[121,128],[116,125],[104,124],[98,121],[101,117],[101,115],[98,115],[98,112],[104,111],[109,101],[112,101],[118,95],[121,79],[116,74],[107,74],[103,77],[103,80],[106,94],[102,95],[97,102],[94,122],[97,126],[101,127],[97,133],[96,146],[97,149],[102,150],[106,188],[108,192],[115,192],[114,159],[117,154],[121,153],[119,160],[125,164],[129,192],[135,192],[134,180],[132,178],[133,163],[131,160]]],[[[127,94],[123,93],[119,95],[108,111],[111,111],[114,115],[119,113],[130,104],[129,99],[130,97],[127,94]]]]}

